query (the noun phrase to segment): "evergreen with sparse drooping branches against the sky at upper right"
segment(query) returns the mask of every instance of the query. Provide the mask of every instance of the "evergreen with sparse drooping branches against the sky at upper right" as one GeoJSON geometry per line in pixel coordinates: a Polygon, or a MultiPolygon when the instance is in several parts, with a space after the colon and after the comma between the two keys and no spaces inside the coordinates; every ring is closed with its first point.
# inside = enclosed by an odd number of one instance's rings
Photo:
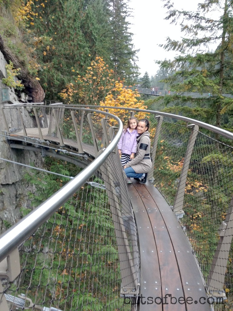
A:
{"type": "MultiPolygon", "coordinates": [[[[164,1],[164,7],[168,9],[166,19],[171,20],[171,23],[177,23],[181,18],[181,31],[185,32],[185,38],[181,41],[168,38],[164,45],[166,50],[176,50],[182,54],[172,61],[158,62],[161,68],[176,72],[165,81],[169,82],[171,89],[179,94],[182,92],[212,93],[211,98],[193,100],[193,102],[202,107],[211,107],[215,124],[219,127],[221,114],[230,112],[233,102],[232,99],[222,96],[224,92],[232,92],[233,86],[232,2],[225,0],[224,7],[221,7],[222,2],[219,0],[207,0],[198,4],[196,12],[189,12],[176,10],[170,1],[164,1]],[[221,14],[219,19],[213,18],[216,11],[221,14]],[[215,51],[211,51],[212,43],[217,45],[215,51]]],[[[171,100],[172,96],[166,98],[166,104],[171,100]]]]}

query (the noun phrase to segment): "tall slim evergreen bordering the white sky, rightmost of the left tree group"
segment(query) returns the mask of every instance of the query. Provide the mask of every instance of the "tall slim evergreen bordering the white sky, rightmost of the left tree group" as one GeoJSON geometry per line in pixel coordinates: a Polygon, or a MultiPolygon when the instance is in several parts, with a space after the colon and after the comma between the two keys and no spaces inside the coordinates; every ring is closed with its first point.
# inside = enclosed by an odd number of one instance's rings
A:
{"type": "Polygon", "coordinates": [[[110,25],[112,28],[111,57],[115,77],[125,79],[126,84],[135,81],[138,76],[137,50],[132,44],[132,33],[129,32],[129,0],[108,0],[111,9],[110,25]]]}

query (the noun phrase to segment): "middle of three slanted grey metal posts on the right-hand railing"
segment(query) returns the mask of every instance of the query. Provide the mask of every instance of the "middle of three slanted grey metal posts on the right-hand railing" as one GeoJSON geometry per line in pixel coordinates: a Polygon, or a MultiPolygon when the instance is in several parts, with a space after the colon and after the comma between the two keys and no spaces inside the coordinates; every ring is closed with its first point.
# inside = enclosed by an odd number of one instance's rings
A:
{"type": "MultiPolygon", "coordinates": [[[[193,147],[196,141],[196,137],[198,134],[199,127],[198,125],[190,124],[188,127],[192,127],[191,134],[189,137],[189,142],[187,146],[187,150],[185,153],[184,163],[181,169],[180,179],[177,186],[175,202],[173,206],[173,211],[176,213],[181,211],[183,208],[184,196],[185,196],[185,185],[186,185],[186,178],[188,174],[190,159],[193,152],[193,147]]],[[[182,211],[183,212],[183,211],[182,211]]]]}

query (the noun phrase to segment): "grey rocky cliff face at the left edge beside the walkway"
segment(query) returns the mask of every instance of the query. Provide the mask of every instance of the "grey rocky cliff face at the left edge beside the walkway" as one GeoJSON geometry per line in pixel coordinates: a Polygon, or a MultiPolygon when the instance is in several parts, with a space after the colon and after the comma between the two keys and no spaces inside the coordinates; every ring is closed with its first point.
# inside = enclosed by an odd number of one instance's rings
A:
{"type": "MultiPolygon", "coordinates": [[[[4,104],[18,104],[31,101],[30,97],[15,94],[12,88],[2,83],[2,78],[6,77],[6,60],[0,52],[0,108],[4,104]]],[[[0,112],[1,121],[2,115],[0,112]]],[[[30,207],[28,193],[34,193],[33,185],[27,184],[23,176],[26,170],[21,165],[7,162],[14,162],[42,167],[43,158],[39,153],[20,149],[12,149],[4,137],[4,123],[0,122],[0,233],[6,229],[7,225],[16,223],[20,218],[20,208],[30,207]],[[4,159],[4,160],[3,160],[4,159]]]]}

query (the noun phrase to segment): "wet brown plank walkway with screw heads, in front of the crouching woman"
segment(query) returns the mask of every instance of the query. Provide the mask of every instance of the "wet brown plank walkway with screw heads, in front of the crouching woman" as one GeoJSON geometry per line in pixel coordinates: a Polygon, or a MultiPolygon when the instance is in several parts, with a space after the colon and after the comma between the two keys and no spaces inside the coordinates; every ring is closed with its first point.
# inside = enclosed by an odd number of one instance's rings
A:
{"type": "Polygon", "coordinates": [[[153,183],[131,180],[140,253],[139,310],[211,310],[189,241],[170,206],[153,183]]]}

